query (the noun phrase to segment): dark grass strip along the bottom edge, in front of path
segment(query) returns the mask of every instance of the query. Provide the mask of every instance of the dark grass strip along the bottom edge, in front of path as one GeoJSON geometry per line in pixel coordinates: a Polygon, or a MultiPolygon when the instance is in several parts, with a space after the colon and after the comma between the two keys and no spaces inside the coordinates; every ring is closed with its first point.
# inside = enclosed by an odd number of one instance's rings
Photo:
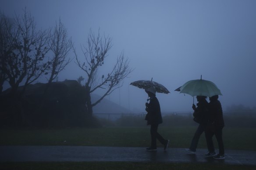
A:
{"type": "Polygon", "coordinates": [[[209,163],[25,162],[0,163],[0,170],[255,170],[255,166],[209,163]]]}

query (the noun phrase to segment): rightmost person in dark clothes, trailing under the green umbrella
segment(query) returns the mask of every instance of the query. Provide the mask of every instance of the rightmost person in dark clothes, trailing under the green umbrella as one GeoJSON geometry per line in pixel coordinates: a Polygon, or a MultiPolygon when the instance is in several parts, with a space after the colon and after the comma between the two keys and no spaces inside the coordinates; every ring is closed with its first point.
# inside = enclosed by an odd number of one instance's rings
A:
{"type": "Polygon", "coordinates": [[[213,135],[216,136],[218,146],[219,146],[219,154],[217,156],[214,156],[214,159],[225,159],[224,156],[224,144],[222,139],[222,129],[224,127],[224,119],[223,119],[223,112],[222,107],[220,104],[220,101],[218,100],[218,95],[210,97],[210,103],[208,106],[209,109],[209,121],[206,127],[206,142],[209,153],[206,154],[206,156],[209,155],[216,155],[215,149],[213,146],[213,135]]]}

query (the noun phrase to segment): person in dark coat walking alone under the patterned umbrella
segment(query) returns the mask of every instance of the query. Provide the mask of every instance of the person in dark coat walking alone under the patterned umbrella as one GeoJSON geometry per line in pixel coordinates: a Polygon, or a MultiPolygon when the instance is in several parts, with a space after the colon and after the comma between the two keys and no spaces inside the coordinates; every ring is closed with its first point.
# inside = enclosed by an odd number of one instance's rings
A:
{"type": "Polygon", "coordinates": [[[164,150],[168,148],[169,140],[164,139],[158,132],[158,125],[163,123],[161,109],[159,101],[156,98],[156,89],[154,87],[150,87],[145,90],[149,96],[149,103],[146,103],[146,121],[147,125],[150,126],[150,134],[151,134],[151,146],[147,148],[147,151],[156,151],[156,139],[160,141],[164,145],[164,150]]]}

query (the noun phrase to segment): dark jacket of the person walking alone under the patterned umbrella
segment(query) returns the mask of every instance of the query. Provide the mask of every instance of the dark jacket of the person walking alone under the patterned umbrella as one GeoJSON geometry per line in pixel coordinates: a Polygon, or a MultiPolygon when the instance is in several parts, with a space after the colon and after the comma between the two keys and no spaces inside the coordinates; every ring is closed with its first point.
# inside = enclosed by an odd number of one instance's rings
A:
{"type": "Polygon", "coordinates": [[[163,123],[159,101],[156,97],[149,99],[149,104],[146,104],[147,125],[155,125],[163,123]]]}

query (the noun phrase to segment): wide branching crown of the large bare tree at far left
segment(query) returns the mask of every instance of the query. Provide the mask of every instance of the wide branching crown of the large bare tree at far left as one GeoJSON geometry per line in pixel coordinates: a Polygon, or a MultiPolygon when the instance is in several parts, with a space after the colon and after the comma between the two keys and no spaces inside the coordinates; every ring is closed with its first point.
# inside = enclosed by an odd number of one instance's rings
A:
{"type": "Polygon", "coordinates": [[[24,83],[21,96],[27,85],[37,80],[45,72],[49,62],[45,59],[50,34],[49,30],[36,30],[36,23],[30,13],[24,10],[20,18],[15,16],[14,24],[7,27],[8,49],[5,51],[1,69],[7,75],[12,93],[17,93],[20,83],[24,83]]]}

